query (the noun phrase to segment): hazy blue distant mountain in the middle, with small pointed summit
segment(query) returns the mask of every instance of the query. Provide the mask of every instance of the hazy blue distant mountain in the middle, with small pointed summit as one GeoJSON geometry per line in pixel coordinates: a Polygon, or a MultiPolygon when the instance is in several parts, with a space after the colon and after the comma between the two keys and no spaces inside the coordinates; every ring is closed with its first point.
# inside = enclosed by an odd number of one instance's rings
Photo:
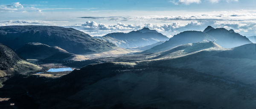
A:
{"type": "Polygon", "coordinates": [[[159,41],[169,40],[169,38],[165,35],[158,33],[156,30],[151,30],[148,28],[143,28],[129,33],[110,33],[98,38],[115,43],[116,46],[122,48],[148,46],[159,41]]]}

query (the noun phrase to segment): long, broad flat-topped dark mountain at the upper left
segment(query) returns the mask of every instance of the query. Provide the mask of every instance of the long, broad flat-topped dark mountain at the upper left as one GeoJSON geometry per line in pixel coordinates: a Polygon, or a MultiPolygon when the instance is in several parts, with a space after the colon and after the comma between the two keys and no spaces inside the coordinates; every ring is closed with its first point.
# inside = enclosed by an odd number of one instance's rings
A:
{"type": "Polygon", "coordinates": [[[58,26],[0,26],[0,43],[19,49],[26,43],[59,46],[67,52],[85,54],[115,49],[113,43],[93,38],[84,32],[58,26]]]}

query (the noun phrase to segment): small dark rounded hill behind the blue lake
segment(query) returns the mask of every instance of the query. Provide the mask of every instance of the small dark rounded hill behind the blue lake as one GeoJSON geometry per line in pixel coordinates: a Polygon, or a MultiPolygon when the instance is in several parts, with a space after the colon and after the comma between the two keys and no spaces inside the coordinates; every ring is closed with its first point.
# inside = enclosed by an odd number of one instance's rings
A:
{"type": "Polygon", "coordinates": [[[71,53],[58,46],[48,46],[42,43],[27,43],[18,49],[17,54],[26,59],[53,59],[60,60],[70,57],[71,53]]]}

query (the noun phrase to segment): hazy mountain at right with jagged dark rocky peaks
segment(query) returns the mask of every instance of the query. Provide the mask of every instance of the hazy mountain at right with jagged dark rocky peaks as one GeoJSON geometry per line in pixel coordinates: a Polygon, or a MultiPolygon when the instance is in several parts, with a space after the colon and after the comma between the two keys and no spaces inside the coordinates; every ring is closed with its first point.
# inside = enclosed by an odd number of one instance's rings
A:
{"type": "Polygon", "coordinates": [[[199,31],[185,31],[180,34],[174,35],[168,41],[158,46],[146,50],[142,53],[148,52],[160,52],[171,49],[175,46],[180,46],[187,43],[213,41],[224,48],[233,48],[244,44],[252,43],[248,38],[242,36],[233,30],[227,30],[224,28],[214,29],[208,26],[204,32],[199,31]]]}

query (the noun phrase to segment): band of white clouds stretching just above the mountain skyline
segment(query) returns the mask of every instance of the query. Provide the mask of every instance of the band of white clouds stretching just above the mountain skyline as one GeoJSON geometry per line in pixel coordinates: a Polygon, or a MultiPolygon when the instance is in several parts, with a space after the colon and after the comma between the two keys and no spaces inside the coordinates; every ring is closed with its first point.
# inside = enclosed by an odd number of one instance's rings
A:
{"type": "MultiPolygon", "coordinates": [[[[31,12],[22,13],[22,15],[25,14],[30,15],[31,12]]],[[[49,13],[45,12],[38,14],[37,18],[48,15],[49,13]]],[[[256,35],[256,11],[250,10],[181,13],[173,16],[87,16],[81,18],[79,17],[81,14],[76,14],[75,16],[68,17],[68,19],[65,16],[60,16],[62,14],[54,15],[47,20],[55,21],[8,20],[0,21],[0,26],[54,25],[72,27],[92,36],[102,36],[111,32],[130,32],[142,29],[143,27],[155,29],[167,36],[173,36],[183,31],[203,31],[207,26],[213,26],[215,28],[234,29],[235,32],[246,36],[256,35]],[[61,19],[62,17],[64,19],[61,19]],[[68,20],[69,22],[57,22],[57,20],[68,20]]]]}

